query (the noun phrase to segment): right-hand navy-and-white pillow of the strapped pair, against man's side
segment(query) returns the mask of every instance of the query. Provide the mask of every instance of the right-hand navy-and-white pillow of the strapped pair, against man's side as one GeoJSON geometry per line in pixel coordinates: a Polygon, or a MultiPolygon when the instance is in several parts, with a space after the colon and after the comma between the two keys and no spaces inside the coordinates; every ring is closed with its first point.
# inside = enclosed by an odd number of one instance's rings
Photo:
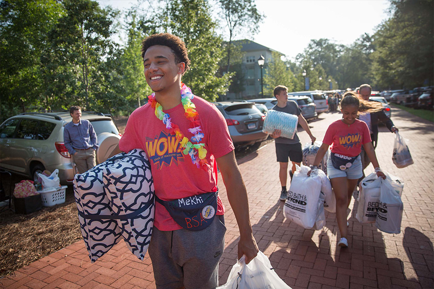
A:
{"type": "Polygon", "coordinates": [[[133,150],[103,170],[103,183],[128,249],[143,260],[154,225],[154,182],[146,153],[133,150]]]}

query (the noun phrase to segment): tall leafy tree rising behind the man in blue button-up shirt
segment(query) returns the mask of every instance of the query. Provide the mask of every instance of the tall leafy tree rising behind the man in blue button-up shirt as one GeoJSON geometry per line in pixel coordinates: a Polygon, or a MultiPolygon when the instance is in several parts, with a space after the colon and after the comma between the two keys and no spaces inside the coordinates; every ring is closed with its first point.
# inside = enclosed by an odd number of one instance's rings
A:
{"type": "Polygon", "coordinates": [[[47,53],[55,67],[54,77],[66,79],[66,98],[62,104],[79,104],[85,109],[103,107],[104,97],[111,95],[104,91],[107,86],[102,85],[107,80],[105,77],[110,77],[103,70],[109,53],[116,50],[111,37],[118,11],[110,7],[101,9],[98,2],[91,0],[63,0],[62,3],[66,14],[51,31],[51,47],[47,53]]]}

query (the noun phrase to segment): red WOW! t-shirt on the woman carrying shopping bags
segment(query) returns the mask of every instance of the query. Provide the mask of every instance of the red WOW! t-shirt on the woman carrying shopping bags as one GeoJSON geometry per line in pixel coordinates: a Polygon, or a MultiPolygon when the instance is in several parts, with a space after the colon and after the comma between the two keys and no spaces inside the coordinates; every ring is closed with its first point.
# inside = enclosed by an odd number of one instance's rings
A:
{"type": "Polygon", "coordinates": [[[371,135],[364,121],[356,119],[348,125],[340,119],[329,126],[322,142],[332,146],[332,153],[357,156],[362,145],[371,142],[371,135]]]}

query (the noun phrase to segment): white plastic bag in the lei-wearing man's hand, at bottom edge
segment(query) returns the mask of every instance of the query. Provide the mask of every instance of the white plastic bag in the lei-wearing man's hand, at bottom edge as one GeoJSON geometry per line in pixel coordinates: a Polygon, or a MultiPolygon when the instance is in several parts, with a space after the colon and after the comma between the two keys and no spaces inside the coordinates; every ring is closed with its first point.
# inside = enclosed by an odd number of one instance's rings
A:
{"type": "Polygon", "coordinates": [[[246,265],[245,256],[232,267],[226,284],[217,289],[291,289],[273,270],[261,251],[246,265]]]}

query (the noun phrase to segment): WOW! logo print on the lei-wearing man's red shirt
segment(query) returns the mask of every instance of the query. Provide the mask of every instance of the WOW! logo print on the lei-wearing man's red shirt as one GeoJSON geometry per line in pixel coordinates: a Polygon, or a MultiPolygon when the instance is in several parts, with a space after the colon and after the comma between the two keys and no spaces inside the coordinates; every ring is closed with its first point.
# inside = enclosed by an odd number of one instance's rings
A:
{"type": "Polygon", "coordinates": [[[163,163],[170,166],[172,162],[178,163],[180,159],[184,159],[176,136],[165,132],[161,132],[153,140],[146,141],[146,152],[149,160],[152,160],[153,164],[158,164],[160,169],[163,163]]]}

